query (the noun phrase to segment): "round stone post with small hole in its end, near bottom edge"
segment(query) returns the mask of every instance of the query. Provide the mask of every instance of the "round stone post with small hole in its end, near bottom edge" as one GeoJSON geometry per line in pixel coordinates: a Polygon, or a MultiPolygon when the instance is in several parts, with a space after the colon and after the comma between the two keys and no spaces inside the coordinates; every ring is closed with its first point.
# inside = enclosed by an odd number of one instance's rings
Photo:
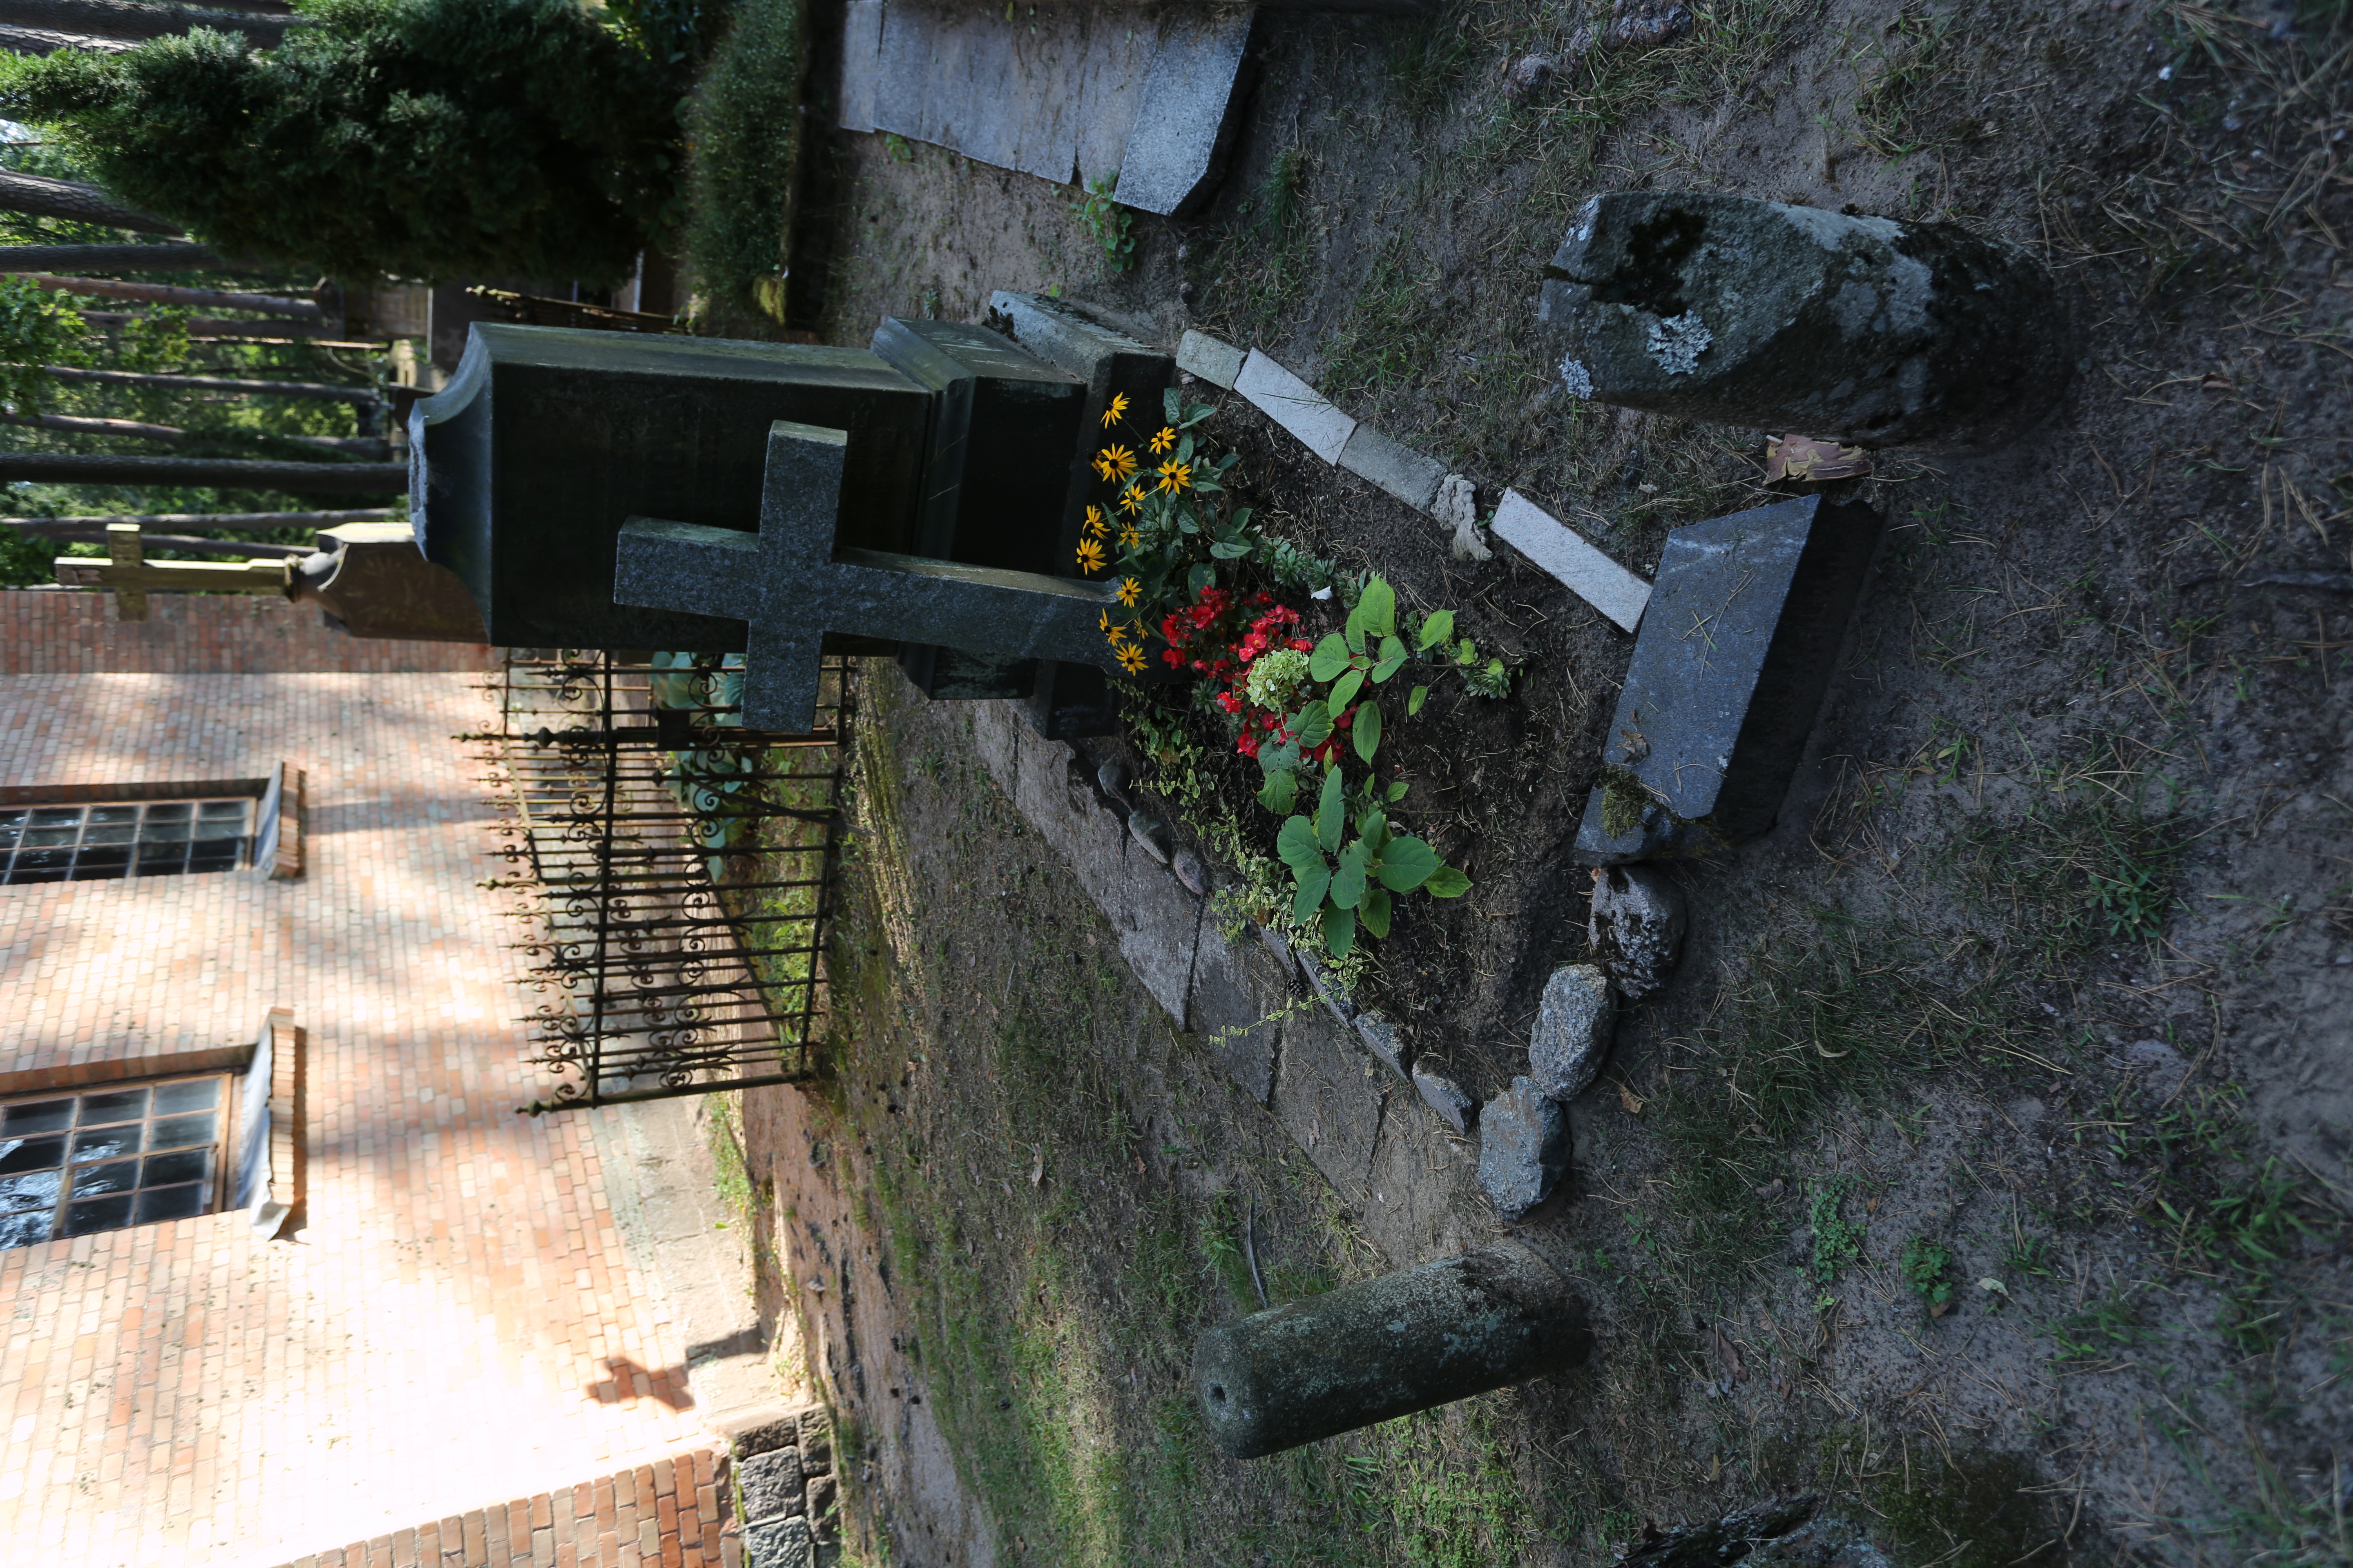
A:
{"type": "Polygon", "coordinates": [[[1569,1281],[1518,1241],[1219,1324],[1193,1345],[1217,1446],[1254,1460],[1579,1366],[1569,1281]]]}

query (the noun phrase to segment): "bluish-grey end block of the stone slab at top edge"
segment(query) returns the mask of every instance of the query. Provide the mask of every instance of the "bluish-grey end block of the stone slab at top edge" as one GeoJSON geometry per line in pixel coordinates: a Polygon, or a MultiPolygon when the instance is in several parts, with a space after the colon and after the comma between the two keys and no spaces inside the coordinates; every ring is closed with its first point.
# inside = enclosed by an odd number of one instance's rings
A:
{"type": "Polygon", "coordinates": [[[1247,96],[1254,19],[1257,7],[1162,12],[1120,162],[1122,207],[1179,219],[1217,190],[1247,96]]]}

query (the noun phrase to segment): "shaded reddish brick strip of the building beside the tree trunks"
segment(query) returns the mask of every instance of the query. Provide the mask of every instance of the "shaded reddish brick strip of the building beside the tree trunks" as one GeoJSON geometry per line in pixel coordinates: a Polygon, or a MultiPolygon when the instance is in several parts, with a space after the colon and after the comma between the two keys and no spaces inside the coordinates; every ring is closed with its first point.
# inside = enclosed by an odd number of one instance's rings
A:
{"type": "Polygon", "coordinates": [[[111,592],[0,590],[0,675],[412,675],[487,670],[475,642],[346,637],[315,604],[266,592],[151,592],[146,621],[115,621],[111,592]]]}

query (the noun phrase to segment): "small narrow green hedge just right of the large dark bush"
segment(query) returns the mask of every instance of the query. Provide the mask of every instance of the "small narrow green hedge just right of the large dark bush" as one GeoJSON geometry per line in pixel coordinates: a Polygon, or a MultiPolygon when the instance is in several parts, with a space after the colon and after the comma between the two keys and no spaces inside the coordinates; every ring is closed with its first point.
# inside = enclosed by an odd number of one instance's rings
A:
{"type": "Polygon", "coordinates": [[[786,315],[807,71],[800,0],[741,0],[687,106],[682,244],[729,331],[786,315]]]}

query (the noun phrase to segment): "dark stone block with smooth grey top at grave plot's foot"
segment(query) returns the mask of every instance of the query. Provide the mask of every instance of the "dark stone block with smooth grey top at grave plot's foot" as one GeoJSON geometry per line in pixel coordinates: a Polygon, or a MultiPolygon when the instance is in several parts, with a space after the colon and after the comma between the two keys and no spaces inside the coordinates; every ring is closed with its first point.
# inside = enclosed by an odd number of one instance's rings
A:
{"type": "Polygon", "coordinates": [[[1772,827],[1878,541],[1878,512],[1821,496],[1666,536],[1581,860],[1706,853],[1772,827]]]}

